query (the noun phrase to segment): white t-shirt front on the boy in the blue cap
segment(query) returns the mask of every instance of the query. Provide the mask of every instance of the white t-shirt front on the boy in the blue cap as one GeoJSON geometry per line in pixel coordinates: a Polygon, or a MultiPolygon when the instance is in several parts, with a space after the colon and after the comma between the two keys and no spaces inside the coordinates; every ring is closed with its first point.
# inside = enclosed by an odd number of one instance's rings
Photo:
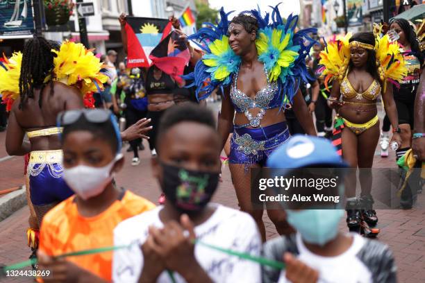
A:
{"type": "MultiPolygon", "coordinates": [[[[359,234],[350,234],[353,237],[351,247],[336,257],[322,257],[310,252],[301,240],[301,234],[297,233],[297,259],[319,272],[319,283],[366,283],[373,282],[372,274],[356,255],[365,245],[365,239],[359,234]]],[[[290,282],[285,277],[285,271],[281,271],[278,283],[290,282]]]]}

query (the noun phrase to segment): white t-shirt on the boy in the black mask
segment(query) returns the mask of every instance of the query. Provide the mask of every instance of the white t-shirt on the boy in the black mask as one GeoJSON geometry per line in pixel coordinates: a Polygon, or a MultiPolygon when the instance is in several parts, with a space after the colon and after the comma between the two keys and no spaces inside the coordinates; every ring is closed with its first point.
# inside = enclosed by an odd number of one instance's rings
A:
{"type": "MultiPolygon", "coordinates": [[[[194,228],[197,239],[220,248],[259,256],[261,238],[251,216],[222,205],[213,203],[209,205],[216,207],[215,212],[206,222],[194,228]]],[[[114,245],[121,246],[135,242],[142,245],[147,239],[150,225],[163,228],[163,222],[159,218],[161,209],[163,207],[157,207],[119,223],[114,230],[114,245]]],[[[194,255],[214,282],[261,282],[260,264],[198,244],[194,247],[194,255]]],[[[116,250],[113,257],[113,281],[138,282],[142,266],[143,254],[138,245],[116,250]]],[[[185,282],[178,273],[174,273],[174,277],[176,282],[185,282]]],[[[172,280],[168,273],[163,272],[157,282],[172,282],[172,280]]]]}

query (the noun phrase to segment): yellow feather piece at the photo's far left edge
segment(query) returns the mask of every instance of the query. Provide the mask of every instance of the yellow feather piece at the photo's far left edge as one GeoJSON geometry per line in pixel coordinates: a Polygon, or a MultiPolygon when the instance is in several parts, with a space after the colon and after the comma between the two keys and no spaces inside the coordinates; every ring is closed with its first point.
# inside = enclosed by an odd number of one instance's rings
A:
{"type": "Polygon", "coordinates": [[[10,111],[13,101],[19,96],[19,76],[21,76],[22,53],[15,52],[12,57],[3,56],[0,66],[0,94],[6,110],[10,111]]]}

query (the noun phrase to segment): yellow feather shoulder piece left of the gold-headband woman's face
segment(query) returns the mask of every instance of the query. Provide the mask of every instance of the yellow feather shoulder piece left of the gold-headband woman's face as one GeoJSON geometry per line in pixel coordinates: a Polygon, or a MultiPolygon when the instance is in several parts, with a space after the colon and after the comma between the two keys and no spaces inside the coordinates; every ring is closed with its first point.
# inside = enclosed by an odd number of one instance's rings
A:
{"type": "Polygon", "coordinates": [[[347,33],[344,37],[333,38],[326,44],[325,50],[320,53],[319,64],[322,65],[322,68],[319,69],[319,72],[322,72],[326,89],[328,83],[335,78],[338,80],[344,78],[350,62],[350,37],[351,33],[347,33]]]}

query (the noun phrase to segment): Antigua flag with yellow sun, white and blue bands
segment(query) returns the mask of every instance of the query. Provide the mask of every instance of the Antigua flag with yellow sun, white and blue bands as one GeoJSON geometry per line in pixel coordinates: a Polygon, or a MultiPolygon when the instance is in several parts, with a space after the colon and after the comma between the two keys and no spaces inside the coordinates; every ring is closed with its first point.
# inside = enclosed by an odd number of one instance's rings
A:
{"type": "Polygon", "coordinates": [[[168,19],[126,17],[127,67],[149,67],[149,54],[172,30],[168,19]]]}

